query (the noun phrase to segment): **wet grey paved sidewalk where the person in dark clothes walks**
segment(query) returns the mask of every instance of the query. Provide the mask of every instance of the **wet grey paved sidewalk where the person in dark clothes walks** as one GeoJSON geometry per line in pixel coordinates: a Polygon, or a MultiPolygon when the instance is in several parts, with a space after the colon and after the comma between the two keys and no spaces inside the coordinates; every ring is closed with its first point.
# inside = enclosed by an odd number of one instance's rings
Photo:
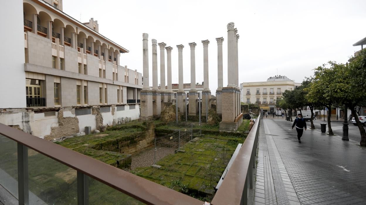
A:
{"type": "Polygon", "coordinates": [[[292,122],[260,124],[254,204],[366,204],[366,149],[292,122]]]}

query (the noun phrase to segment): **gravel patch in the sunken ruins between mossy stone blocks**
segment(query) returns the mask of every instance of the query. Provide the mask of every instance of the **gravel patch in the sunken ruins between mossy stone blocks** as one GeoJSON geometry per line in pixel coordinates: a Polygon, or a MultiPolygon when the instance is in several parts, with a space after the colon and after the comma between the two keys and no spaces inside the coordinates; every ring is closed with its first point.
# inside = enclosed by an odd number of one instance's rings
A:
{"type": "MultiPolygon", "coordinates": [[[[156,147],[155,161],[161,160],[163,157],[174,154],[174,147],[156,147]]],[[[154,164],[154,148],[142,151],[139,154],[132,155],[131,169],[142,166],[151,166],[154,164]]]]}

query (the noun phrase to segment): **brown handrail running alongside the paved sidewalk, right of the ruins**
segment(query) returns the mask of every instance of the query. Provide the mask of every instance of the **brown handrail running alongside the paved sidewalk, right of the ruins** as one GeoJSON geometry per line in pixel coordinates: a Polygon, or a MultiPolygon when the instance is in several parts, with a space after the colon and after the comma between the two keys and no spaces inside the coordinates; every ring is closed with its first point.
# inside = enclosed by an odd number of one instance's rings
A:
{"type": "Polygon", "coordinates": [[[257,121],[250,130],[238,155],[225,175],[225,179],[213,197],[211,205],[247,204],[247,201],[242,200],[246,200],[248,197],[245,191],[249,189],[249,179],[251,179],[250,175],[253,169],[254,153],[257,148],[256,142],[260,120],[261,114],[259,114],[257,121]]]}

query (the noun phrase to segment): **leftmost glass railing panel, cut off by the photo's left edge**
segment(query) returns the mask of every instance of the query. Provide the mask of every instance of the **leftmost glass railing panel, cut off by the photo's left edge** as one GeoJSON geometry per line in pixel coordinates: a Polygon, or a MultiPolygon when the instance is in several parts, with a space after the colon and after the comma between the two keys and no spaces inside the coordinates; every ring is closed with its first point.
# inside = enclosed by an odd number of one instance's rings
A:
{"type": "Polygon", "coordinates": [[[3,135],[0,135],[0,184],[18,199],[17,143],[3,135]]]}

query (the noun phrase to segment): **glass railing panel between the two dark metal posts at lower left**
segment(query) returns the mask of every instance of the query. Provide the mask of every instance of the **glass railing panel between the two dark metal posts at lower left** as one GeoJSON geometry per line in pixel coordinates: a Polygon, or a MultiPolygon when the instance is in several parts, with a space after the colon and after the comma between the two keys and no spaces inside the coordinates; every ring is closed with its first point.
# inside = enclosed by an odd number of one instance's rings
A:
{"type": "Polygon", "coordinates": [[[28,148],[29,204],[77,204],[76,170],[28,148]]]}

